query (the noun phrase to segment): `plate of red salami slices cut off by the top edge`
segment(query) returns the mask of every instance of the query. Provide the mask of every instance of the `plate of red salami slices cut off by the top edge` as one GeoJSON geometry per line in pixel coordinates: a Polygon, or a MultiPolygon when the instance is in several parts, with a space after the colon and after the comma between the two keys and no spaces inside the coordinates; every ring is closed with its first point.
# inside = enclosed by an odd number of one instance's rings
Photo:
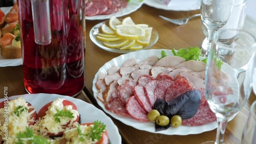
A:
{"type": "Polygon", "coordinates": [[[121,17],[139,9],[141,0],[88,0],[86,1],[86,19],[109,19],[111,16],[121,17]]]}

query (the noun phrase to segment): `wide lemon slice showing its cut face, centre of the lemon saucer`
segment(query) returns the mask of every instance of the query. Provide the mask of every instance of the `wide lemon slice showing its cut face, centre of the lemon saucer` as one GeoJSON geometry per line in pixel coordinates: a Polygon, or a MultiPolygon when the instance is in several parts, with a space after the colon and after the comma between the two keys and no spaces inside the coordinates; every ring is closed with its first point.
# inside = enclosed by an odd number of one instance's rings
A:
{"type": "Polygon", "coordinates": [[[136,25],[118,25],[116,26],[116,34],[128,39],[139,39],[145,37],[146,32],[144,28],[136,25]]]}

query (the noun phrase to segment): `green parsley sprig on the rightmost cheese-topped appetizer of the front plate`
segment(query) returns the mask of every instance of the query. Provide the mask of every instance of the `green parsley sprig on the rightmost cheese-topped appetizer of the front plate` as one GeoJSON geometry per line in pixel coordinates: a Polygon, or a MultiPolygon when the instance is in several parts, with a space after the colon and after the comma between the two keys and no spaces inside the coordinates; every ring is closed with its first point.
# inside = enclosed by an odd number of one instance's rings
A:
{"type": "Polygon", "coordinates": [[[79,135],[79,140],[84,141],[86,137],[89,137],[90,139],[94,140],[100,140],[102,132],[106,129],[106,125],[101,123],[100,121],[95,121],[93,123],[93,127],[91,128],[90,132],[87,134],[82,133],[80,127],[77,127],[77,132],[79,135]]]}

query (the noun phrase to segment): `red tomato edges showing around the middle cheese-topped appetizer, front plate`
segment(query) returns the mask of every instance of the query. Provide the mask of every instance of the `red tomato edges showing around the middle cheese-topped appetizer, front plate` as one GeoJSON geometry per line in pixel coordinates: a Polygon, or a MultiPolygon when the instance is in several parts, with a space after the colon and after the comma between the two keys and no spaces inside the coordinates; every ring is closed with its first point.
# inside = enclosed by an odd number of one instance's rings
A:
{"type": "MultiPolygon", "coordinates": [[[[44,116],[46,115],[46,111],[48,110],[48,107],[51,106],[51,104],[52,104],[52,102],[49,102],[49,103],[47,103],[46,105],[44,105],[44,106],[39,110],[36,119],[39,119],[39,118],[44,117],[44,116]]],[[[76,105],[75,105],[74,103],[72,103],[71,101],[63,100],[62,104],[63,104],[63,106],[71,105],[74,110],[77,110],[76,105]]],[[[75,123],[75,122],[80,123],[80,115],[77,116],[76,120],[75,120],[73,123],[75,123]]],[[[63,125],[62,128],[66,128],[69,124],[70,124],[70,122],[67,123],[66,125],[63,125]]],[[[57,133],[57,134],[54,134],[54,133],[47,133],[47,135],[52,136],[52,137],[58,137],[58,136],[61,136],[61,135],[63,134],[63,132],[64,132],[64,131],[61,131],[61,132],[59,132],[59,133],[57,133]]]]}

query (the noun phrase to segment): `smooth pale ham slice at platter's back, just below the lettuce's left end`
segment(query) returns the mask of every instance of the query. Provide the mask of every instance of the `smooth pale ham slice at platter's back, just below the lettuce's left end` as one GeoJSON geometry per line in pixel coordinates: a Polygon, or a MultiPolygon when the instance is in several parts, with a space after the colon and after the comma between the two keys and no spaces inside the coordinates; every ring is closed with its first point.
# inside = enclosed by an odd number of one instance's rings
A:
{"type": "Polygon", "coordinates": [[[177,66],[185,62],[185,59],[178,56],[166,56],[161,58],[155,66],[177,66]]]}

